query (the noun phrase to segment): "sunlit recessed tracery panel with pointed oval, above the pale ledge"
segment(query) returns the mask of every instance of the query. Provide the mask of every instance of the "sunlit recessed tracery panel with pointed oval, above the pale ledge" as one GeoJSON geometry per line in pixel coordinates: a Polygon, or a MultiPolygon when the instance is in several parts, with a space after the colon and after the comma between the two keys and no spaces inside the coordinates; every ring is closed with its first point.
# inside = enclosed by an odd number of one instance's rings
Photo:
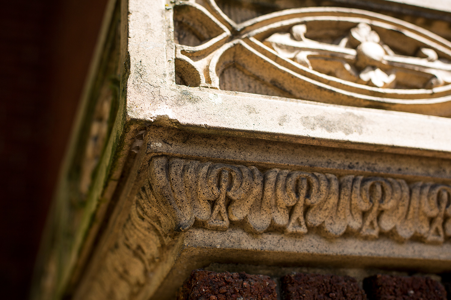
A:
{"type": "MultiPolygon", "coordinates": [[[[176,82],[265,94],[227,82],[236,67],[280,95],[451,115],[451,43],[379,13],[286,9],[235,23],[213,0],[174,7],[176,82]]],[[[240,72],[241,72],[240,71],[240,72]]]]}

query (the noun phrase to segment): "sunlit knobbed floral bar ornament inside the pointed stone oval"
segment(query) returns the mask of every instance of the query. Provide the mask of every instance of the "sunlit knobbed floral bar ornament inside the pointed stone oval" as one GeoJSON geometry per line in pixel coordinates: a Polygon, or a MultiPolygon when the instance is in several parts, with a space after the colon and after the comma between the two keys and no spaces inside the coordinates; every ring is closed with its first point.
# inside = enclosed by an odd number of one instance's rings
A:
{"type": "Polygon", "coordinates": [[[451,83],[451,61],[439,60],[437,52],[426,47],[418,50],[417,55],[422,57],[395,54],[368,23],[361,22],[351,28],[348,35],[335,41],[337,44],[308,39],[306,31],[305,24],[298,24],[291,28],[290,33],[275,33],[264,41],[281,57],[292,59],[311,70],[309,58],[316,59],[320,72],[332,73],[359,84],[395,88],[400,83],[405,88],[430,89],[451,83]],[[341,66],[330,65],[331,60],[339,61],[341,66]],[[406,80],[410,79],[410,74],[406,74],[397,80],[397,72],[419,72],[425,76],[412,81],[406,80]],[[428,79],[427,74],[432,77],[428,79]]]}

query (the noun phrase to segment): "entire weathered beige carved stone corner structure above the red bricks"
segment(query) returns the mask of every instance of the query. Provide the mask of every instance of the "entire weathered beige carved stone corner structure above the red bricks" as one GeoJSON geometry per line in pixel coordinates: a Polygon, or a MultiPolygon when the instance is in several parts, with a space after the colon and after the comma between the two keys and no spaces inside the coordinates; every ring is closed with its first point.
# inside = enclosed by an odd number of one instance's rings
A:
{"type": "Polygon", "coordinates": [[[212,263],[451,270],[446,30],[322,2],[112,1],[119,102],[80,121],[60,190],[88,197],[59,196],[41,295],[169,300],[212,263]]]}

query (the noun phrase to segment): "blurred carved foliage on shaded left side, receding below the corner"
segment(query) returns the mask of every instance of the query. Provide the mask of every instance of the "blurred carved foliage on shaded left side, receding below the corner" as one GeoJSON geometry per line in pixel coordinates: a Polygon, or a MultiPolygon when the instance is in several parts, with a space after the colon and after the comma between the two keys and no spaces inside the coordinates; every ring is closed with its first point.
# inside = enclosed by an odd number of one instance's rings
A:
{"type": "Polygon", "coordinates": [[[144,285],[150,285],[149,277],[159,276],[159,263],[169,260],[178,243],[167,209],[154,198],[147,179],[133,197],[117,239],[102,257],[104,263],[74,299],[133,299],[144,285]]]}

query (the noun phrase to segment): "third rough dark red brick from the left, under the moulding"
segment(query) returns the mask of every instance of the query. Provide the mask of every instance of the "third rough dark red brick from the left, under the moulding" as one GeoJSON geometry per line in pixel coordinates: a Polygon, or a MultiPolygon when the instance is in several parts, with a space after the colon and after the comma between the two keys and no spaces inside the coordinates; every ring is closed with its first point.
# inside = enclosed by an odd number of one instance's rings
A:
{"type": "Polygon", "coordinates": [[[428,277],[374,275],[364,279],[369,300],[446,300],[440,282],[428,277]]]}

